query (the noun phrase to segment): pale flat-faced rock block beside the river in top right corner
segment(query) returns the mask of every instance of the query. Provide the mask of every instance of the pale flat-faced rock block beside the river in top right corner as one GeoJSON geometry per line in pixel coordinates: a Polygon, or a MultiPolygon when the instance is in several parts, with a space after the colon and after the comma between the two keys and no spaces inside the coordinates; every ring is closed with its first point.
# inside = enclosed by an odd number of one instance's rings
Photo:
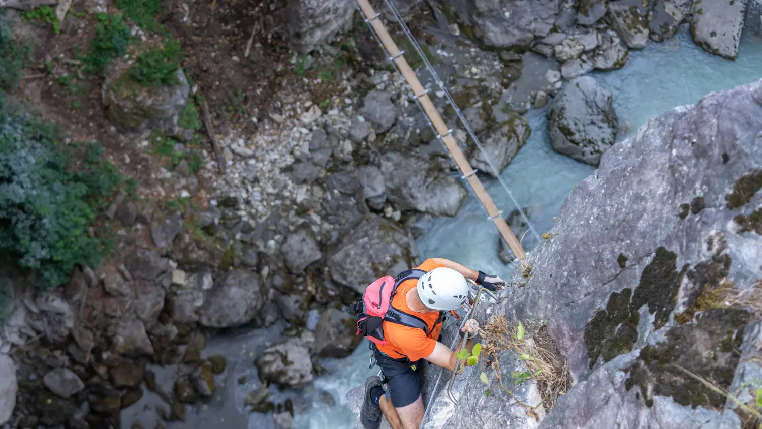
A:
{"type": "Polygon", "coordinates": [[[748,0],[693,2],[693,21],[690,24],[693,41],[708,53],[735,59],[747,4],[748,0]]]}

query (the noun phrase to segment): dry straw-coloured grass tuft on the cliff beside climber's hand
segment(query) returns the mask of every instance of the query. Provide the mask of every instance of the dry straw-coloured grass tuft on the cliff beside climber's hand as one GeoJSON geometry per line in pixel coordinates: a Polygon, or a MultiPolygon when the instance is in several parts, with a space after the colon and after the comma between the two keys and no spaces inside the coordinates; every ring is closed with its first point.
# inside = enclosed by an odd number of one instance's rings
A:
{"type": "Polygon", "coordinates": [[[492,357],[494,363],[505,351],[512,351],[520,357],[527,371],[537,379],[543,405],[549,410],[561,395],[571,389],[566,359],[560,356],[544,324],[527,322],[523,325],[523,335],[517,335],[518,330],[519,322],[515,317],[512,322],[508,322],[504,315],[493,318],[482,328],[482,337],[488,340],[488,344],[482,347],[482,354],[492,357]]]}

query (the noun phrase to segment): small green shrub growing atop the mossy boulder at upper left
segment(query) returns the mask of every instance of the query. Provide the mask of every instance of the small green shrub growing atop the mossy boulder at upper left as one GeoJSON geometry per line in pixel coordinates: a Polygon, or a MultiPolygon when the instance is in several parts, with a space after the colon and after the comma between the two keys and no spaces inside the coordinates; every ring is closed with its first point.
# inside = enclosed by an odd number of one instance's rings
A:
{"type": "Polygon", "coordinates": [[[179,82],[175,73],[183,59],[180,42],[168,38],[163,49],[153,48],[138,56],[130,69],[130,78],[143,86],[174,85],[179,82]]]}

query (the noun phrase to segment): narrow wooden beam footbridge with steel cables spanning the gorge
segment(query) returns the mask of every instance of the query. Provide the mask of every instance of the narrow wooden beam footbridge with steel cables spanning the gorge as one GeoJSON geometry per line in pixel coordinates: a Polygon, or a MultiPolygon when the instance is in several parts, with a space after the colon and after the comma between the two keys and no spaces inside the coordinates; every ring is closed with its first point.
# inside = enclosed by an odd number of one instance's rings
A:
{"type": "MultiPolygon", "coordinates": [[[[479,151],[482,152],[482,156],[489,165],[491,172],[493,175],[495,175],[496,178],[498,178],[501,187],[503,187],[508,197],[516,206],[520,216],[529,228],[527,232],[532,232],[532,236],[536,244],[540,240],[539,234],[536,232],[536,229],[534,229],[533,224],[530,223],[527,214],[523,212],[513,193],[511,193],[510,188],[508,188],[504,179],[501,177],[500,171],[498,171],[498,169],[495,168],[495,165],[491,162],[491,159],[482,146],[482,143],[479,142],[479,139],[476,137],[471,126],[469,126],[469,123],[466,121],[466,117],[463,116],[463,112],[461,112],[459,107],[457,107],[453,97],[450,95],[450,92],[447,91],[447,88],[445,88],[444,82],[442,82],[442,80],[439,78],[437,72],[434,71],[434,68],[431,66],[431,62],[429,62],[427,57],[424,55],[423,51],[421,50],[421,46],[418,44],[418,41],[415,40],[415,37],[413,37],[411,34],[411,31],[408,28],[407,24],[405,24],[405,21],[402,20],[402,15],[392,3],[392,0],[386,0],[386,5],[389,8],[389,11],[392,11],[395,21],[397,21],[399,26],[402,27],[402,30],[405,33],[405,37],[407,37],[409,43],[411,43],[411,46],[413,46],[415,52],[418,53],[418,56],[424,63],[427,71],[431,74],[431,77],[434,79],[434,85],[437,85],[441,93],[445,95],[447,102],[450,104],[450,107],[452,107],[456,112],[460,123],[462,123],[463,127],[466,129],[466,133],[468,133],[469,137],[471,137],[471,139],[475,142],[479,151]]],[[[418,107],[424,113],[424,116],[427,117],[427,122],[429,126],[434,129],[434,133],[437,135],[437,138],[443,142],[448,152],[450,152],[450,156],[453,158],[453,161],[456,163],[462,174],[461,177],[469,184],[474,194],[479,199],[479,202],[482,203],[482,206],[487,212],[488,220],[495,223],[498,232],[500,232],[501,238],[508,245],[508,247],[511,248],[511,252],[513,252],[516,258],[519,260],[525,258],[526,252],[524,251],[520,240],[517,239],[514,232],[511,231],[511,228],[505,222],[505,219],[502,216],[502,211],[498,210],[498,207],[495,206],[495,202],[487,194],[487,190],[485,189],[482,182],[479,181],[479,178],[475,174],[475,170],[471,167],[468,159],[466,158],[466,155],[463,154],[463,151],[459,148],[455,138],[453,137],[453,130],[447,128],[447,125],[444,123],[444,120],[437,111],[437,108],[434,107],[434,103],[432,103],[431,98],[428,97],[429,91],[425,89],[423,85],[421,85],[421,82],[418,81],[418,77],[415,75],[415,72],[413,69],[411,69],[411,66],[405,59],[403,51],[399,50],[399,47],[394,42],[394,40],[392,40],[391,35],[386,30],[386,27],[384,27],[383,22],[379,19],[380,14],[376,13],[376,11],[373,9],[373,6],[371,6],[367,0],[357,0],[357,8],[360,10],[360,13],[363,14],[365,22],[370,28],[370,32],[376,37],[379,45],[384,50],[384,53],[386,53],[386,57],[389,59],[389,62],[395,66],[395,69],[397,69],[397,71],[401,73],[404,76],[405,80],[408,82],[408,87],[412,91],[412,98],[415,100],[416,104],[418,104],[418,107]]]]}

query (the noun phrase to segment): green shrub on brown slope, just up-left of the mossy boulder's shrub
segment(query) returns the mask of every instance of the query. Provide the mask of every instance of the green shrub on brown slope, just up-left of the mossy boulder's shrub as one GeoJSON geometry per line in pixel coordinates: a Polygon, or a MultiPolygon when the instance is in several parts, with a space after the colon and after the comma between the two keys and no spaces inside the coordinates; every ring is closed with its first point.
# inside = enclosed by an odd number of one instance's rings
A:
{"type": "Polygon", "coordinates": [[[114,16],[96,14],[95,37],[90,41],[90,50],[85,56],[85,72],[102,74],[111,59],[127,53],[130,44],[130,28],[121,14],[114,16]]]}

